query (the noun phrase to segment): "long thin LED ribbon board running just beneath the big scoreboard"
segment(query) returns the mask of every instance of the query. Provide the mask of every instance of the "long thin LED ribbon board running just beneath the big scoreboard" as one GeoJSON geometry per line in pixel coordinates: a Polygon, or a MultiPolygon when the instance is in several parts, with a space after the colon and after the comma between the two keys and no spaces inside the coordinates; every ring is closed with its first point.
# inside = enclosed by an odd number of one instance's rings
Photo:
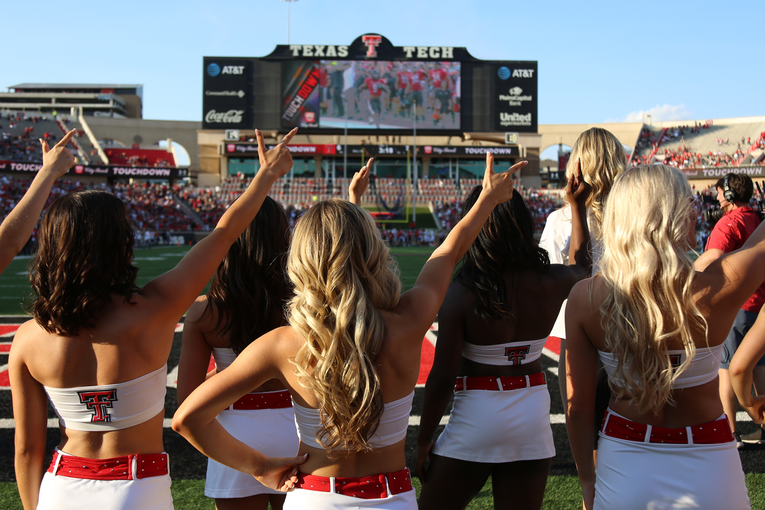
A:
{"type": "MultiPolygon", "coordinates": [[[[258,154],[258,145],[254,143],[239,143],[239,144],[226,144],[226,154],[234,156],[240,155],[252,155],[258,154]]],[[[266,148],[273,148],[275,145],[266,145],[266,148]]],[[[292,154],[304,154],[311,156],[332,156],[343,155],[344,146],[338,145],[288,145],[287,146],[292,154]]],[[[414,147],[412,145],[348,145],[349,155],[360,155],[374,157],[374,156],[405,156],[407,151],[412,154],[414,147]]],[[[417,154],[419,156],[432,156],[434,158],[450,156],[476,156],[485,158],[487,152],[494,154],[495,156],[503,157],[516,157],[519,156],[519,149],[517,147],[479,147],[479,146],[455,146],[455,145],[422,145],[418,146],[417,154]]]]}

